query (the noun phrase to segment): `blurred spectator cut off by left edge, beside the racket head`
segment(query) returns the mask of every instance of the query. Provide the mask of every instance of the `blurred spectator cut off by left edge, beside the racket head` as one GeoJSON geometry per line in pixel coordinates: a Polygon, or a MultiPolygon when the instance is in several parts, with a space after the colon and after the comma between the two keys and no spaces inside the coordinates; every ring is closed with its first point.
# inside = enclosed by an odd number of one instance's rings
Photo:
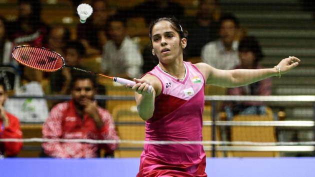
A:
{"type": "Polygon", "coordinates": [[[13,43],[6,35],[6,21],[0,16],[0,65],[17,67],[18,63],[12,58],[13,43]]]}

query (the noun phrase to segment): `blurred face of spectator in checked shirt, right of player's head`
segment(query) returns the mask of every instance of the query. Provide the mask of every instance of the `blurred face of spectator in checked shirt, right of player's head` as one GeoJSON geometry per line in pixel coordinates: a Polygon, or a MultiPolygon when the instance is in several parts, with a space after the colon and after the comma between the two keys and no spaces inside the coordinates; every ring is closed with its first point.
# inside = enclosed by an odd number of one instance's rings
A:
{"type": "Polygon", "coordinates": [[[224,44],[232,44],[237,33],[237,28],[233,20],[224,20],[220,27],[220,36],[224,44]]]}

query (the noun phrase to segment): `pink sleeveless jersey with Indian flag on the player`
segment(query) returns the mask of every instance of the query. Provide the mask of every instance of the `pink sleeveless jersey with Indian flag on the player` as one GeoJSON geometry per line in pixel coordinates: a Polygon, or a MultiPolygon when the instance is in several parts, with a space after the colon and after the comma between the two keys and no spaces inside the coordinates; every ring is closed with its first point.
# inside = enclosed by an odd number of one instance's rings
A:
{"type": "MultiPolygon", "coordinates": [[[[155,98],[153,116],[145,122],[145,140],[202,140],[204,78],[191,62],[184,62],[184,66],[184,80],[176,79],[158,66],[148,72],[160,80],[162,91],[155,98]]],[[[189,174],[200,173],[196,176],[205,176],[202,144],[145,144],[139,173],[145,170],[143,161],[158,161],[168,166],[173,164],[183,167],[189,174]],[[203,163],[201,169],[198,166],[200,163],[203,163]]],[[[138,176],[146,176],[144,173],[138,176]]]]}

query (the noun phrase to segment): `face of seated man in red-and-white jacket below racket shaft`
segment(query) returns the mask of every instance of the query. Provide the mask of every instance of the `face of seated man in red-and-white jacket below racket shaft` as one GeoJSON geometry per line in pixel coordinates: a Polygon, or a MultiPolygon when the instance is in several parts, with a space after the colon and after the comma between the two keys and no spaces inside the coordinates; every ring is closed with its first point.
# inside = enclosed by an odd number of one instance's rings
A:
{"type": "Polygon", "coordinates": [[[73,84],[71,91],[74,103],[81,105],[81,101],[85,98],[93,100],[95,95],[95,89],[90,79],[78,79],[73,84]]]}

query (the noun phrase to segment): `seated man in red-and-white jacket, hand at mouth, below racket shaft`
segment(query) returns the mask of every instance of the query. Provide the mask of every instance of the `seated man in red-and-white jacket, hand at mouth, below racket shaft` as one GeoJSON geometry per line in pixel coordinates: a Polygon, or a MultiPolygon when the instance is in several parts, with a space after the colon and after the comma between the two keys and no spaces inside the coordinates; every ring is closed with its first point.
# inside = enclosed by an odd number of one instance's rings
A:
{"type": "MultiPolygon", "coordinates": [[[[95,75],[75,72],[70,101],[55,105],[43,124],[43,138],[118,139],[109,112],[94,100],[95,75]]],[[[112,154],[117,144],[44,142],[44,153],[51,157],[97,157],[99,148],[112,154]]]]}

